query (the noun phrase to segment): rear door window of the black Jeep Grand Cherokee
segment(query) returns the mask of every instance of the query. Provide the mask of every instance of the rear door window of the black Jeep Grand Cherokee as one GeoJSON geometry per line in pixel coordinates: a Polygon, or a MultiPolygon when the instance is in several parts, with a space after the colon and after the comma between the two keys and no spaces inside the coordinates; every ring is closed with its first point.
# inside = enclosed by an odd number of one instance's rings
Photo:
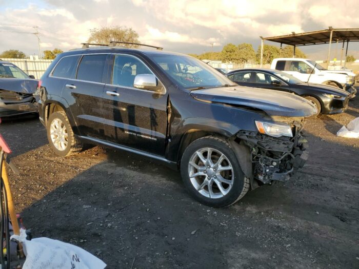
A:
{"type": "Polygon", "coordinates": [[[78,65],[76,79],[102,82],[107,54],[84,55],[78,65]]]}

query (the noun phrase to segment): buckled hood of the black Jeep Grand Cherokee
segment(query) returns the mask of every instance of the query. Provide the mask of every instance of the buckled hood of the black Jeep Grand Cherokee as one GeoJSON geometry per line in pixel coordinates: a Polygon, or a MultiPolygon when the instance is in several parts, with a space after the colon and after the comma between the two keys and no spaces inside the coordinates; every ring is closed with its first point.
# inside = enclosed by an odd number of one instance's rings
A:
{"type": "Polygon", "coordinates": [[[260,109],[270,116],[308,117],[316,108],[308,100],[286,92],[243,86],[191,91],[198,100],[260,109]]]}

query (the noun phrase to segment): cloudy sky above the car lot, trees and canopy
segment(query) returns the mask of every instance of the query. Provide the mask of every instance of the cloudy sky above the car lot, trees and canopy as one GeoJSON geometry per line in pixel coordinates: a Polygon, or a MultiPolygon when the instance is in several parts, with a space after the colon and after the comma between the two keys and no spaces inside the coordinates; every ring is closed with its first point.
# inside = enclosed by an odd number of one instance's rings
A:
{"type": "MultiPolygon", "coordinates": [[[[212,44],[221,51],[230,42],[256,50],[259,36],[359,28],[358,11],[357,0],[0,0],[0,52],[37,54],[34,26],[42,50],[80,47],[90,29],[102,26],[131,27],[141,42],[182,53],[211,51],[212,44]]],[[[359,44],[349,46],[359,58],[359,44]]],[[[326,49],[303,51],[315,58],[325,57],[326,49]]]]}

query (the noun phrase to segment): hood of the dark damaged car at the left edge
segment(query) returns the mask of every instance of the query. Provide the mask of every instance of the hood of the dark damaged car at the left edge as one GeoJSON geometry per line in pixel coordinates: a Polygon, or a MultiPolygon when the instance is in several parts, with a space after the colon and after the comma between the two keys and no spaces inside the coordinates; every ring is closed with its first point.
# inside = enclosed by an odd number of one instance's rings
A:
{"type": "Polygon", "coordinates": [[[0,78],[0,90],[20,93],[34,93],[37,80],[31,78],[0,78]]]}

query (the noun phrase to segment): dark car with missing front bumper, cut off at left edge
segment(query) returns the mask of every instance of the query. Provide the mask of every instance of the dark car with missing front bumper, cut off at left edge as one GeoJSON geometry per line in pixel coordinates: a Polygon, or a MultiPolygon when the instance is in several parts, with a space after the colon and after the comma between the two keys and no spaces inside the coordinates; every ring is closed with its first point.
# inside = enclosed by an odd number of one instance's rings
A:
{"type": "Polygon", "coordinates": [[[0,117],[37,112],[37,83],[17,66],[0,61],[0,117]]]}

